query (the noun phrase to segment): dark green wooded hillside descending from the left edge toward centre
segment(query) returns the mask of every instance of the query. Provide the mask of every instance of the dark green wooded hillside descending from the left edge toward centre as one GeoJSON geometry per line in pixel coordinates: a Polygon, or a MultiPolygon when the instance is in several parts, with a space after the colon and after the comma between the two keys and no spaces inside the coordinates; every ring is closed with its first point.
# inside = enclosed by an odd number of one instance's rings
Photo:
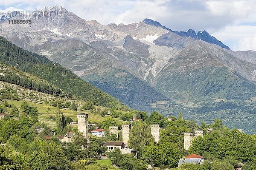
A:
{"type": "Polygon", "coordinates": [[[84,82],[61,65],[51,62],[46,57],[23,50],[3,37],[0,37],[0,61],[45,79],[57,88],[81,99],[92,100],[102,106],[127,109],[117,99],[84,82]]]}

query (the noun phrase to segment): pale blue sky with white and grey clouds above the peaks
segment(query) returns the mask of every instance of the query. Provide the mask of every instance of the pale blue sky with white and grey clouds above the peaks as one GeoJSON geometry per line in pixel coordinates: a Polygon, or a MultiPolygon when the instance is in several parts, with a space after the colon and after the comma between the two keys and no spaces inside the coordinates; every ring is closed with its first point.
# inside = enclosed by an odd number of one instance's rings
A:
{"type": "Polygon", "coordinates": [[[150,18],[174,31],[206,30],[232,50],[256,51],[255,0],[0,0],[0,4],[0,11],[28,13],[60,5],[105,25],[150,18]]]}

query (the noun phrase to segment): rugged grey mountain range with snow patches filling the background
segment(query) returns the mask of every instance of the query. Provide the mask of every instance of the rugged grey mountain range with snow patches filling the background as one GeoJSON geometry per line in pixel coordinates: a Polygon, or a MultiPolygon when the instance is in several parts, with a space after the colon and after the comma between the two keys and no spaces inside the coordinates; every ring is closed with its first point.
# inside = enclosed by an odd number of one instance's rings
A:
{"type": "Polygon", "coordinates": [[[61,6],[0,13],[0,35],[70,69],[131,108],[172,114],[215,99],[256,96],[256,52],[231,51],[207,31],[154,20],[104,26],[61,6]],[[9,24],[9,19],[32,24],[9,24]],[[176,109],[176,110],[175,110],[176,109]]]}

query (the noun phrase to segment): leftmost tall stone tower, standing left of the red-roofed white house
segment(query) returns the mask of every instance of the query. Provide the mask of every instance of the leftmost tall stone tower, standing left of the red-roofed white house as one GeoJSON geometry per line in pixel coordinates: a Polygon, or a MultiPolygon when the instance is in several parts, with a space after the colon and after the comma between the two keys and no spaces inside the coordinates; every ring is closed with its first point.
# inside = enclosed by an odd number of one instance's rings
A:
{"type": "Polygon", "coordinates": [[[89,138],[88,132],[88,114],[77,115],[77,130],[82,133],[87,139],[89,138]]]}

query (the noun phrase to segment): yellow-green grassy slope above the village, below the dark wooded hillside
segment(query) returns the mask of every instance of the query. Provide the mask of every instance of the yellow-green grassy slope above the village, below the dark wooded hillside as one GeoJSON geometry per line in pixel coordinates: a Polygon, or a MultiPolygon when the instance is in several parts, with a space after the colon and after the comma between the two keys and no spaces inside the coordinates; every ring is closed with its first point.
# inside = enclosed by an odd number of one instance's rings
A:
{"type": "MultiPolygon", "coordinates": [[[[29,89],[25,89],[23,87],[17,86],[17,85],[13,85],[7,82],[1,82],[0,81],[0,90],[1,89],[6,89],[6,87],[11,87],[13,90],[17,91],[18,97],[19,98],[23,98],[24,100],[26,100],[30,106],[34,106],[35,108],[38,109],[39,112],[39,120],[40,121],[44,121],[45,123],[47,123],[47,125],[50,126],[55,126],[55,121],[49,120],[49,116],[55,116],[55,111],[57,111],[58,108],[47,104],[47,101],[55,101],[55,100],[59,100],[62,102],[76,102],[79,105],[79,108],[81,108],[81,106],[85,103],[83,100],[74,100],[74,99],[68,99],[68,98],[64,98],[64,97],[59,97],[59,96],[54,96],[54,95],[49,95],[49,94],[44,94],[41,92],[37,92],[34,90],[29,90],[29,89]],[[34,97],[31,98],[31,94],[33,94],[34,97]],[[48,110],[49,108],[49,110],[48,110]]],[[[7,100],[7,102],[9,104],[13,104],[15,105],[20,113],[22,113],[22,111],[20,110],[20,106],[22,104],[22,100],[7,100]]],[[[103,106],[95,106],[96,109],[107,109],[110,110],[110,108],[107,107],[103,107],[103,106]]],[[[10,112],[10,108],[7,110],[7,112],[10,112]]],[[[64,116],[69,116],[70,118],[73,119],[73,121],[77,121],[77,114],[81,113],[80,111],[72,111],[68,108],[65,109],[61,109],[61,111],[64,113],[64,116]]],[[[119,111],[119,110],[115,110],[117,113],[126,113],[125,111],[119,111]]],[[[102,117],[96,114],[92,114],[90,113],[90,111],[82,111],[82,113],[88,113],[88,121],[89,122],[96,122],[96,123],[101,123],[106,117],[102,117]]],[[[116,119],[116,118],[113,118],[116,119]]],[[[127,122],[124,122],[120,119],[116,119],[116,122],[118,124],[125,124],[127,122]]],[[[76,126],[76,125],[74,125],[76,126]]]]}

